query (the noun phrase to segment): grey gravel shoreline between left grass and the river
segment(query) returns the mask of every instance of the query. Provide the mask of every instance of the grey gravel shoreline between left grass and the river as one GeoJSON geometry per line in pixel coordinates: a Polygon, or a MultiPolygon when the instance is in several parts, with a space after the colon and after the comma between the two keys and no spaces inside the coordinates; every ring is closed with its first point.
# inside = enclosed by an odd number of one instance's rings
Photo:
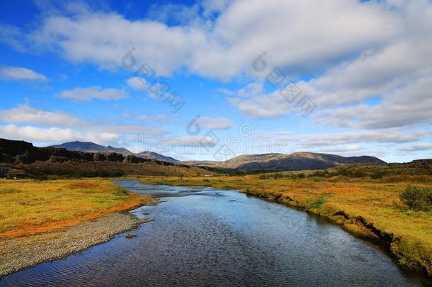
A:
{"type": "Polygon", "coordinates": [[[111,213],[64,230],[0,241],[0,278],[45,261],[62,259],[149,220],[130,213],[111,213]]]}

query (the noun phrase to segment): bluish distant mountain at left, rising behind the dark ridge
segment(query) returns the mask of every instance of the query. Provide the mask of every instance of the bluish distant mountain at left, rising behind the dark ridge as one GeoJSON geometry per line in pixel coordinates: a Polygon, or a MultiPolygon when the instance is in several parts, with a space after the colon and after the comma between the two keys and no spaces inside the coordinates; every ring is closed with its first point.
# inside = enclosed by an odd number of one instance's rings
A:
{"type": "Polygon", "coordinates": [[[108,147],[104,147],[103,145],[97,145],[94,142],[65,142],[62,145],[52,145],[52,147],[62,147],[66,150],[72,150],[76,152],[98,152],[103,154],[115,152],[118,154],[123,154],[124,156],[133,155],[143,159],[157,159],[163,160],[165,162],[178,162],[177,159],[166,157],[156,152],[140,152],[139,154],[135,154],[124,147],[112,147],[110,145],[108,145],[108,147]]]}

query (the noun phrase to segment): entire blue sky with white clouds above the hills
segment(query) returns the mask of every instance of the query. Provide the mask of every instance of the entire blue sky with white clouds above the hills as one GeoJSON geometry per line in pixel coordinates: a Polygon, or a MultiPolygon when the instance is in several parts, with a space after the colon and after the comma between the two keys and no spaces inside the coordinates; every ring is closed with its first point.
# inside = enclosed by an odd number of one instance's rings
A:
{"type": "Polygon", "coordinates": [[[0,137],[430,158],[431,19],[421,0],[1,1],[0,137]]]}

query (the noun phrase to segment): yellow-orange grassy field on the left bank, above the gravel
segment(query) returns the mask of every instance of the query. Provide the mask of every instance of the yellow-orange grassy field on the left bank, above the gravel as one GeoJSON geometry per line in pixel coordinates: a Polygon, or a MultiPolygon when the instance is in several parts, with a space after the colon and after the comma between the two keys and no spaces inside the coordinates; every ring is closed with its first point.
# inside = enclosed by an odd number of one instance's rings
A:
{"type": "Polygon", "coordinates": [[[152,201],[103,179],[0,179],[0,239],[59,230],[152,201]]]}

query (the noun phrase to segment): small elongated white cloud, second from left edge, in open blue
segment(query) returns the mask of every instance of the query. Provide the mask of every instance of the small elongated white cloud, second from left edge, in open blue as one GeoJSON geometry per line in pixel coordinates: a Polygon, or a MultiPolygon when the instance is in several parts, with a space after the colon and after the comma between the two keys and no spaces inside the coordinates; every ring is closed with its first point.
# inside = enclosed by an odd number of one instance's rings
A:
{"type": "Polygon", "coordinates": [[[103,89],[100,86],[89,88],[75,88],[56,94],[57,97],[72,101],[91,101],[99,99],[104,101],[126,99],[129,95],[123,89],[103,89]]]}

